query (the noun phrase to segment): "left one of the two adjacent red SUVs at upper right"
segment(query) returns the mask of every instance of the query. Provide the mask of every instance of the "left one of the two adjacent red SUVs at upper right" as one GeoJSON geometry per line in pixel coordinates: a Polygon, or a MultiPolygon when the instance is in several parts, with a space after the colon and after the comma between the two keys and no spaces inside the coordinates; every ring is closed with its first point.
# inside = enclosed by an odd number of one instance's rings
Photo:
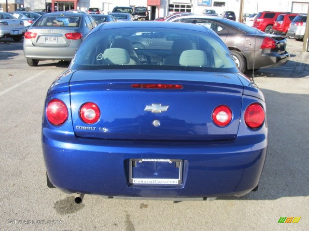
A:
{"type": "Polygon", "coordinates": [[[253,27],[258,30],[264,31],[267,34],[273,33],[273,24],[279,14],[287,14],[290,12],[274,12],[274,11],[263,11],[256,15],[253,22],[253,27]]]}

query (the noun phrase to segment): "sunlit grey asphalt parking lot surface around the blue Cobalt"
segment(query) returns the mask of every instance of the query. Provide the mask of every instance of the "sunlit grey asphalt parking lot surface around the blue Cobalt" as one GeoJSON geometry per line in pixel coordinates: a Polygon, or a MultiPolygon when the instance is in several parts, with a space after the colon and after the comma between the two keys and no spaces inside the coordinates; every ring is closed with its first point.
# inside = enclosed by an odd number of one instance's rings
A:
{"type": "Polygon", "coordinates": [[[23,44],[0,40],[0,230],[308,230],[309,52],[247,72],[266,98],[269,149],[259,190],[215,201],[108,200],[46,186],[40,129],[45,95],[67,62],[29,67],[23,44]],[[298,223],[278,223],[301,217],[298,223]]]}

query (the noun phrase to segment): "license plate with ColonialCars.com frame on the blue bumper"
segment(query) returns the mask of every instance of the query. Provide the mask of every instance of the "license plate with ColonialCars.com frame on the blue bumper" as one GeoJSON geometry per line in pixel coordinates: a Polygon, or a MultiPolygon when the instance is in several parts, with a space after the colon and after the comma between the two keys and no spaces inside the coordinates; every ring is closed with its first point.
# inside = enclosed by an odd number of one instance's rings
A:
{"type": "Polygon", "coordinates": [[[130,183],[151,185],[179,185],[182,160],[130,159],[130,183]]]}

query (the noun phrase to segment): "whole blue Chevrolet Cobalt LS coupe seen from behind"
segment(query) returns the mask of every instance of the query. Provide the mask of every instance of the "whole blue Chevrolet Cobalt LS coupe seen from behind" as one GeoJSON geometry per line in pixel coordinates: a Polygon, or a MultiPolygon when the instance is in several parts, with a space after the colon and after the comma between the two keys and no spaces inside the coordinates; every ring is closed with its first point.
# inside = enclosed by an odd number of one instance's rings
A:
{"type": "Polygon", "coordinates": [[[258,187],[267,130],[263,94],[212,30],[102,23],[47,92],[47,184],[108,198],[242,196],[258,187]],[[139,37],[153,39],[141,48],[139,37]]]}

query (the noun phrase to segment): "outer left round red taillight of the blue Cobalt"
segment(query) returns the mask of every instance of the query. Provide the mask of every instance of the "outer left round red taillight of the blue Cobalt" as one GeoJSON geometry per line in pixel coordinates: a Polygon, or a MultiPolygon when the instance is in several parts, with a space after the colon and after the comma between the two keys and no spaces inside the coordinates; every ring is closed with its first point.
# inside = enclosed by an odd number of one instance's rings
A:
{"type": "Polygon", "coordinates": [[[46,108],[47,120],[55,125],[60,126],[68,119],[68,109],[66,104],[59,99],[52,99],[46,108]]]}

